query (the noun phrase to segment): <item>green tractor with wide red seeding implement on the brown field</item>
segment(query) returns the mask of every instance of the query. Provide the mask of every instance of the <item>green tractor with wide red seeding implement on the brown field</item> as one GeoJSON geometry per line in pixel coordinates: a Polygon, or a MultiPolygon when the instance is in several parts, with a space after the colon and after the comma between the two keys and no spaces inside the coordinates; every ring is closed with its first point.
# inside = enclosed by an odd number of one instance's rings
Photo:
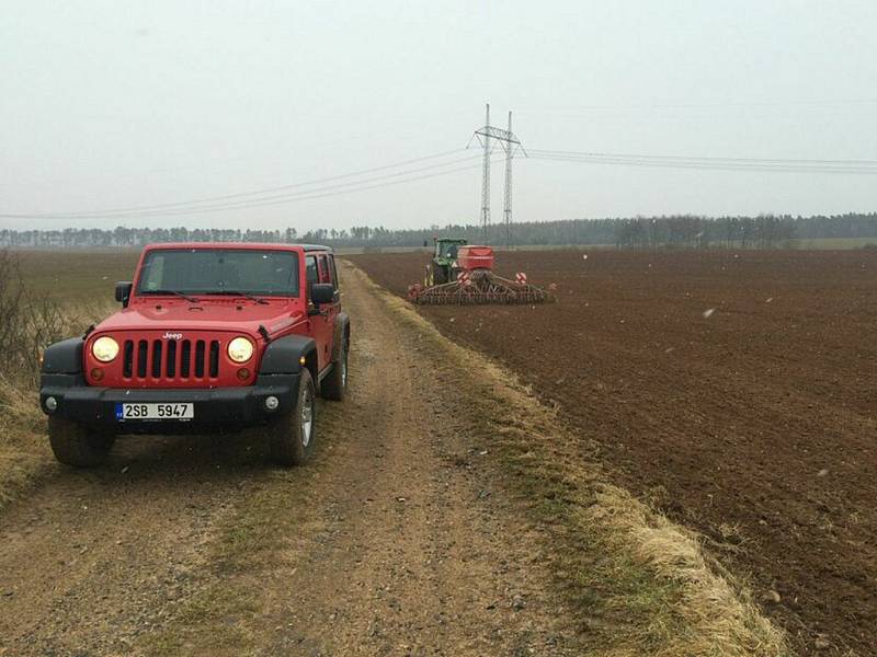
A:
{"type": "Polygon", "coordinates": [[[466,245],[462,240],[436,240],[435,255],[423,284],[408,288],[414,303],[544,303],[551,296],[527,283],[524,273],[514,280],[493,273],[493,249],[466,245]]]}

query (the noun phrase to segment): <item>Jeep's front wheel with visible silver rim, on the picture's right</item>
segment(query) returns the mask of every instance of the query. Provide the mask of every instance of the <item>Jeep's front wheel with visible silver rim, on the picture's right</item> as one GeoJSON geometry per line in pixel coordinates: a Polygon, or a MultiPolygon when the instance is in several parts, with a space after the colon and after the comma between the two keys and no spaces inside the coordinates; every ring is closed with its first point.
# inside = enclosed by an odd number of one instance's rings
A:
{"type": "Polygon", "coordinates": [[[307,369],[303,369],[292,411],[269,428],[271,459],[280,465],[304,465],[314,453],[316,396],[314,378],[307,369]]]}

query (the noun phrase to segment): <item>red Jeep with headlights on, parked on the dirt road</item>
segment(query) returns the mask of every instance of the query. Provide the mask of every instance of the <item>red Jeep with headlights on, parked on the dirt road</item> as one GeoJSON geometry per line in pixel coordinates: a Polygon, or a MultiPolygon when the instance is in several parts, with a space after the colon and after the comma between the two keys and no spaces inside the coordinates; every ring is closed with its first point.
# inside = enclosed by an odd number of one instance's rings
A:
{"type": "Polygon", "coordinates": [[[123,309],[48,347],[39,402],[55,457],[95,465],[119,434],[264,426],[274,460],[314,451],[315,396],[341,400],[350,321],[331,249],[153,244],[123,309]]]}

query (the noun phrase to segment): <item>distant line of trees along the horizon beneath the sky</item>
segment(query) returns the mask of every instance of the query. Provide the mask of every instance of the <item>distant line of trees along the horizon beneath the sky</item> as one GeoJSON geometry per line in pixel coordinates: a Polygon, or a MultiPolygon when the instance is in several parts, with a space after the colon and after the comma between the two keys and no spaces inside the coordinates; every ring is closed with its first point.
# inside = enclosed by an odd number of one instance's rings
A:
{"type": "MultiPolygon", "coordinates": [[[[0,229],[0,247],[138,247],[155,242],[312,242],[335,247],[411,247],[430,243],[435,235],[483,241],[475,224],[432,226],[394,230],[360,226],[350,229],[317,229],[299,233],[284,230],[209,228],[66,228],[62,230],[0,229]]],[[[526,221],[512,227],[513,245],[613,244],[622,249],[775,249],[793,240],[822,238],[874,238],[877,212],[791,217],[697,217],[694,215],[637,217],[634,219],[568,219],[526,221]]],[[[505,228],[493,224],[488,242],[505,244],[505,228]]]]}

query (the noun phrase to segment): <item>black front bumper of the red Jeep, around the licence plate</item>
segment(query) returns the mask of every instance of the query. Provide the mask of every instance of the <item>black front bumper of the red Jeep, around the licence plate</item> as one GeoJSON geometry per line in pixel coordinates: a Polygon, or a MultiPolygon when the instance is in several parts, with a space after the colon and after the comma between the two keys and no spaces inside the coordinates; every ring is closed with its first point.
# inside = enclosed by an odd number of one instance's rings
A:
{"type": "Polygon", "coordinates": [[[288,413],[298,394],[300,374],[261,374],[254,385],[239,388],[96,388],[81,374],[43,374],[39,405],[46,415],[73,422],[112,427],[121,434],[179,434],[260,425],[288,413]],[[275,396],[278,406],[270,411],[265,399],[275,396]],[[46,400],[55,397],[50,411],[46,400]],[[193,403],[193,419],[116,419],[118,403],[193,403]]]}

